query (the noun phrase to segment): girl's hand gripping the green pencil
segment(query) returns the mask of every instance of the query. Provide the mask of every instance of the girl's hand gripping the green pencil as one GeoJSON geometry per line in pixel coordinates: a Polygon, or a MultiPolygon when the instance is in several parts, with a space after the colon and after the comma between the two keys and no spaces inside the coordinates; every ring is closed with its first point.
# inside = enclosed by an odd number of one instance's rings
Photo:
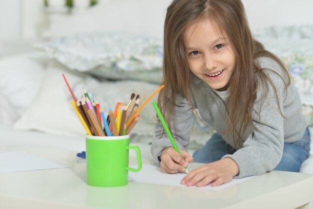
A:
{"type": "Polygon", "coordinates": [[[184,172],[185,167],[193,161],[188,152],[179,149],[180,154],[173,147],[166,147],[162,150],[160,158],[160,170],[163,173],[184,172]]]}

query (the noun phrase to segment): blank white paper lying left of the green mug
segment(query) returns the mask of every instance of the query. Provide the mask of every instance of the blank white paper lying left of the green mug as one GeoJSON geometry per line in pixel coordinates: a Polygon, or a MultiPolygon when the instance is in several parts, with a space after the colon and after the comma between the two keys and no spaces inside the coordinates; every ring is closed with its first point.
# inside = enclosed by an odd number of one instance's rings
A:
{"type": "Polygon", "coordinates": [[[0,173],[65,168],[24,152],[0,152],[0,173]]]}

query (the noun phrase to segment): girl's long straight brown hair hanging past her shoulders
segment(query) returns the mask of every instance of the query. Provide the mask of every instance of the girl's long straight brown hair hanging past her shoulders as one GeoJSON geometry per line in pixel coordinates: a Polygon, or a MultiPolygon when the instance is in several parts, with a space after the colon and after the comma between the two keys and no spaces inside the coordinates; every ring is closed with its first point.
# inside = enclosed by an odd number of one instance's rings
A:
{"type": "MultiPolygon", "coordinates": [[[[287,68],[262,44],[254,40],[240,0],[173,0],[168,6],[164,22],[163,46],[163,91],[159,93],[158,105],[166,120],[170,121],[175,107],[175,95],[190,99],[190,70],[183,47],[183,33],[191,24],[209,18],[228,38],[235,55],[235,69],[229,84],[230,96],[226,103],[226,130],[231,134],[235,148],[242,145],[242,135],[252,121],[256,93],[260,85],[268,84],[276,91],[272,81],[255,62],[258,57],[270,57],[284,69],[287,75],[285,87],[290,84],[287,68]],[[239,125],[236,125],[239,124],[239,125]]],[[[274,71],[273,71],[274,72],[274,71]]],[[[280,76],[281,77],[281,76],[280,76]]],[[[281,78],[282,79],[282,78],[281,78]]],[[[276,93],[278,104],[278,96],[276,93]]],[[[282,112],[279,111],[282,115],[282,112]]],[[[259,114],[259,113],[257,113],[259,114]]]]}

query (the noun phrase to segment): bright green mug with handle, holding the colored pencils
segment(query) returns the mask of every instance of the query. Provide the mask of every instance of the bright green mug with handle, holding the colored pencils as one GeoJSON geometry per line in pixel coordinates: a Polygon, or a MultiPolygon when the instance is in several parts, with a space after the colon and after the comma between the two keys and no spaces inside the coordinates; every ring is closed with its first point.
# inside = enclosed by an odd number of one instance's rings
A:
{"type": "Polygon", "coordinates": [[[129,135],[86,136],[87,184],[112,187],[128,183],[128,170],[141,170],[138,146],[129,146],[129,135]],[[129,149],[136,151],[137,168],[128,167],[129,149]]]}

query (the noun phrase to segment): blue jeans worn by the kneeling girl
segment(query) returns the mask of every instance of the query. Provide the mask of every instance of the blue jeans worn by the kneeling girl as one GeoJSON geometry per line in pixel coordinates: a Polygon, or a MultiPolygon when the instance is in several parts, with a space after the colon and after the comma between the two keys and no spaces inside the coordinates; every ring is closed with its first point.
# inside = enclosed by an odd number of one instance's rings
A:
{"type": "MultiPolygon", "coordinates": [[[[220,135],[213,134],[205,145],[193,153],[194,162],[209,163],[220,160],[226,154],[236,150],[227,144],[220,135]]],[[[274,170],[298,172],[302,162],[309,156],[310,135],[306,128],[303,137],[293,143],[284,143],[282,157],[274,170]]]]}

